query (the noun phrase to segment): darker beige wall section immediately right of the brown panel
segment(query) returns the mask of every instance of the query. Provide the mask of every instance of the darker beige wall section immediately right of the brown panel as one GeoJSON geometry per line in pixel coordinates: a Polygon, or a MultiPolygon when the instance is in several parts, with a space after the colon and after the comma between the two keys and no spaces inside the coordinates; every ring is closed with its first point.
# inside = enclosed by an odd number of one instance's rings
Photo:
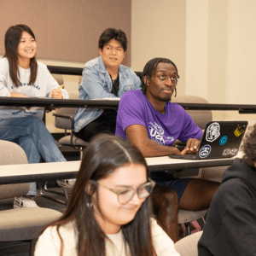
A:
{"type": "Polygon", "coordinates": [[[171,59],[178,69],[178,93],[185,92],[186,1],[131,0],[131,68],[143,71],[155,57],[171,59]]]}

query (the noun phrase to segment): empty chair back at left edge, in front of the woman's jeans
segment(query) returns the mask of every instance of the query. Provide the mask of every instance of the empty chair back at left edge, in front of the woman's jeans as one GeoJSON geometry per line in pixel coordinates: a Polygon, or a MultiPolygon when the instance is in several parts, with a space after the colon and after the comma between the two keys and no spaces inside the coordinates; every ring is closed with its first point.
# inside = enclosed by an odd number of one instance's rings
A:
{"type": "MultiPolygon", "coordinates": [[[[20,165],[27,163],[26,153],[19,145],[0,140],[0,168],[4,168],[5,165],[20,165]]],[[[29,191],[29,187],[29,183],[0,185],[0,199],[26,195],[29,191]]]]}

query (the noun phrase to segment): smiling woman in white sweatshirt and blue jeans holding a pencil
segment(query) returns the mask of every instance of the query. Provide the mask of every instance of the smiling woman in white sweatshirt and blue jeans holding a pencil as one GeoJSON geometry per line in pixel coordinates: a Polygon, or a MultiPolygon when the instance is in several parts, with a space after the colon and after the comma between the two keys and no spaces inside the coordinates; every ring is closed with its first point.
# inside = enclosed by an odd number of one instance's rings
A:
{"type": "MultiPolygon", "coordinates": [[[[36,38],[28,26],[10,26],[4,46],[0,96],[68,98],[47,67],[36,61],[36,38]]],[[[0,139],[20,144],[29,163],[38,163],[41,156],[47,162],[66,161],[46,129],[43,116],[44,108],[1,107],[0,139]]],[[[14,207],[38,207],[33,195],[37,195],[36,183],[31,183],[26,197],[15,198],[14,207]]]]}

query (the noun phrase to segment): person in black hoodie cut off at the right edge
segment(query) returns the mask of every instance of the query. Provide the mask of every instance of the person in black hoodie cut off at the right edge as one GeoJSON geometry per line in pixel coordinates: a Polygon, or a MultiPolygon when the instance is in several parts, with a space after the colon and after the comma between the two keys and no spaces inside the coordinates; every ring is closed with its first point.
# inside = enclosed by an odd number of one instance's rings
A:
{"type": "Polygon", "coordinates": [[[212,199],[198,255],[256,255],[256,125],[246,135],[244,155],[222,177],[212,199]]]}

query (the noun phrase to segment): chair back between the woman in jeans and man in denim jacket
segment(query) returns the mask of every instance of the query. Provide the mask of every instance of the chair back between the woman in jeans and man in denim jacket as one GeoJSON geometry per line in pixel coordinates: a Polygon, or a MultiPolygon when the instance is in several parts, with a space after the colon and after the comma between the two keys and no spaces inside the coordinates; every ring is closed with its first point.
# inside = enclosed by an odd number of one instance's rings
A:
{"type": "MultiPolygon", "coordinates": [[[[70,99],[79,99],[79,90],[73,90],[68,92],[70,99]]],[[[75,117],[77,108],[56,108],[55,113],[63,114],[70,116],[72,118],[75,117]]],[[[71,130],[72,129],[72,119],[65,119],[60,117],[55,117],[55,127],[64,129],[64,130],[71,130]]]]}

